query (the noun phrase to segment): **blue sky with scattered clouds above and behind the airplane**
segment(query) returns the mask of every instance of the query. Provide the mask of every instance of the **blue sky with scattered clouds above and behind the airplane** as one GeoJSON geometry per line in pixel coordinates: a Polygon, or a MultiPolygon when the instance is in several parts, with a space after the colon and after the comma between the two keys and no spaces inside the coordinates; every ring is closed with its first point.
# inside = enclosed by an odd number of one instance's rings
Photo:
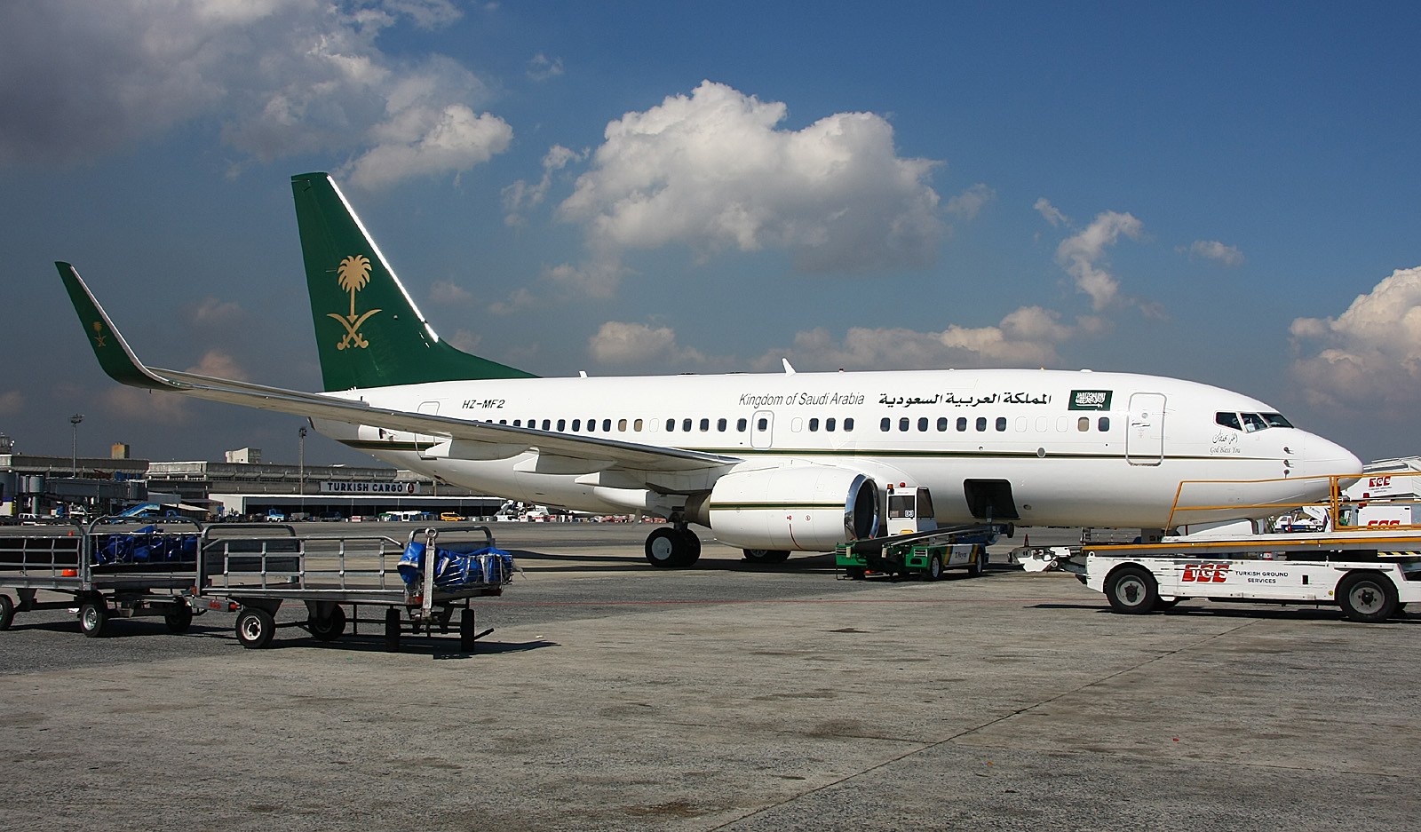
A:
{"type": "Polygon", "coordinates": [[[23,451],[81,412],[81,454],[294,461],[294,417],[108,382],[51,263],[151,363],[317,389],[307,170],[445,338],[540,375],[1084,366],[1418,450],[1411,4],[18,0],[0,33],[23,451]]]}

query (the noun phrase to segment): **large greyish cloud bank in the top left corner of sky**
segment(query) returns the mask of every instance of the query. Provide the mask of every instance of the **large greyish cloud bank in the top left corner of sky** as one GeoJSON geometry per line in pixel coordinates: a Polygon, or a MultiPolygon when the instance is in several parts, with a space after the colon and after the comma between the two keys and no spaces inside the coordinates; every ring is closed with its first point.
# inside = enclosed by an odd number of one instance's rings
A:
{"type": "Polygon", "coordinates": [[[355,155],[360,183],[462,170],[507,145],[506,124],[473,116],[485,84],[450,58],[377,47],[459,14],[449,0],[3,3],[0,165],[80,162],[207,121],[260,160],[355,155]]]}

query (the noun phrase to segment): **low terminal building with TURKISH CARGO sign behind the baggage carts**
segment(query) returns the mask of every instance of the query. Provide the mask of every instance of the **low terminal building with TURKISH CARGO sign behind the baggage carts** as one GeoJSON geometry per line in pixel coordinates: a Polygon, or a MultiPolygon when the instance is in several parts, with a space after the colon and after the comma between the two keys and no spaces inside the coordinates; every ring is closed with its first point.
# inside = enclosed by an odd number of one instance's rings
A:
{"type": "Polygon", "coordinates": [[[109,459],[57,457],[14,453],[0,434],[0,517],[98,517],[145,503],[196,520],[486,517],[504,504],[398,469],[269,464],[259,449],[229,451],[220,463],[128,459],[125,444],[109,459]]]}

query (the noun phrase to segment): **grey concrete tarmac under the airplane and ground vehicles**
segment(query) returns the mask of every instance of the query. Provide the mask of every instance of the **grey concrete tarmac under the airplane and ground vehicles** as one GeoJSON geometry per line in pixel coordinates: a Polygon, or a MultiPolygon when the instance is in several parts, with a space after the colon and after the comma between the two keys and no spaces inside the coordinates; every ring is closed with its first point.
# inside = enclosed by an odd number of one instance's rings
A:
{"type": "Polygon", "coordinates": [[[0,633],[3,823],[1295,831],[1421,815],[1421,618],[1209,602],[1121,616],[999,555],[976,579],[851,582],[831,557],[752,566],[708,534],[696,568],[658,571],[647,531],[496,525],[527,574],[476,602],[496,629],[470,656],[411,637],[385,653],[377,625],[246,650],[230,613],[180,636],[115,619],[99,639],[63,611],[20,613],[0,633]]]}

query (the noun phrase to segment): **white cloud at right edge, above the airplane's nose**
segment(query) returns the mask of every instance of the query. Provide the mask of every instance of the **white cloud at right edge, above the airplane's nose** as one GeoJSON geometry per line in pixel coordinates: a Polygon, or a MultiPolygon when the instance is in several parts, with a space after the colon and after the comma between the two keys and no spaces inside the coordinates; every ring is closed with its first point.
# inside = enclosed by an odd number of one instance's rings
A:
{"type": "Polygon", "coordinates": [[[1293,376],[1317,407],[1414,420],[1421,405],[1421,267],[1398,268],[1336,318],[1297,318],[1289,332],[1317,349],[1293,376]]]}

